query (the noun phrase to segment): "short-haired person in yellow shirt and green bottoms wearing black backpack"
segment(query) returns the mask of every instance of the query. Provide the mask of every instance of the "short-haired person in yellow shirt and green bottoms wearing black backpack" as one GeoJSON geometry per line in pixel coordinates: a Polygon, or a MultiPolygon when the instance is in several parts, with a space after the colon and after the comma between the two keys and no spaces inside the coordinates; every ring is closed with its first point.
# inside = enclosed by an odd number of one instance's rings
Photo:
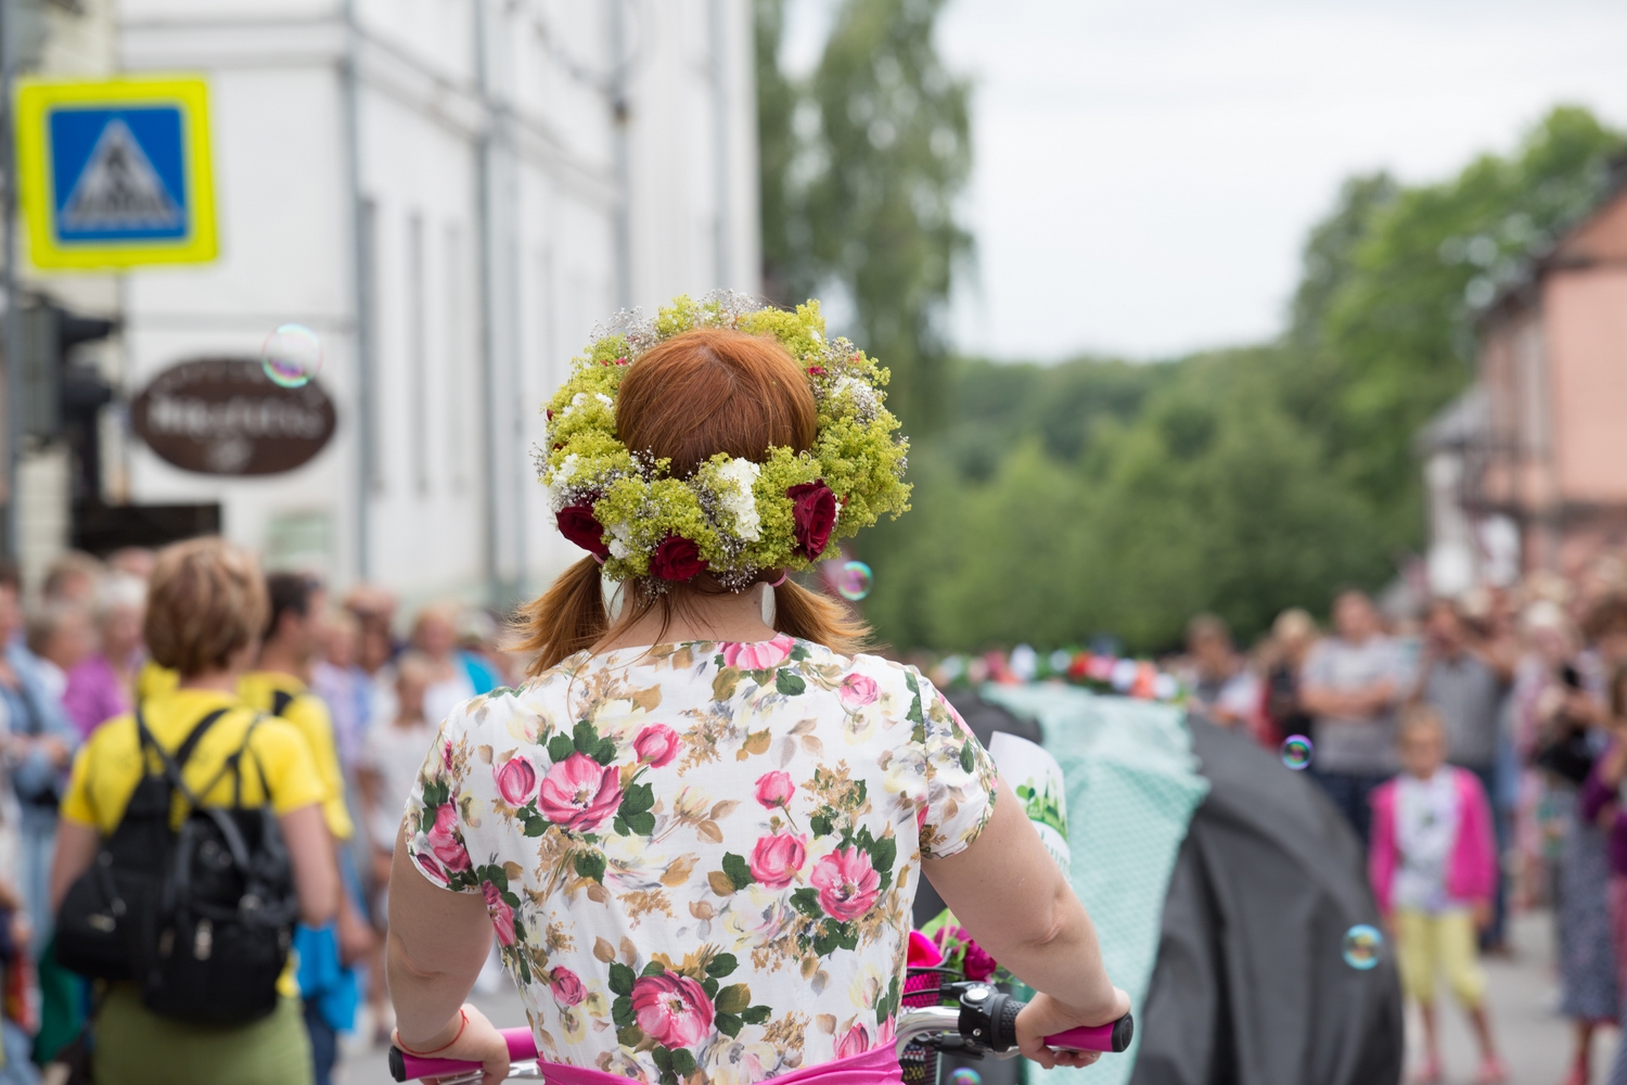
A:
{"type": "MultiPolygon", "coordinates": [[[[140,712],[153,739],[169,752],[205,717],[223,712],[184,768],[190,787],[215,781],[200,795],[205,804],[233,802],[239,781],[221,769],[247,735],[260,771],[242,774],[242,804],[270,804],[277,812],[301,919],[322,924],[338,901],[332,836],[322,820],[327,791],[299,730],[260,717],[236,696],[238,680],[259,647],[265,612],[260,573],[246,551],[220,538],[166,548],[153,571],[143,634],[153,659],[179,680],[174,690],[148,698],[140,712]]],[[[143,773],[156,771],[156,758],[142,756],[133,714],[107,721],[80,748],[62,800],[50,870],[54,909],[89,869],[101,839],[119,826],[143,773]]],[[[142,1005],[133,984],[109,984],[94,1022],[94,1078],[101,1085],[309,1083],[311,1052],[291,974],[283,974],[278,991],[283,999],[270,1017],[220,1028],[158,1017],[142,1005]]]]}

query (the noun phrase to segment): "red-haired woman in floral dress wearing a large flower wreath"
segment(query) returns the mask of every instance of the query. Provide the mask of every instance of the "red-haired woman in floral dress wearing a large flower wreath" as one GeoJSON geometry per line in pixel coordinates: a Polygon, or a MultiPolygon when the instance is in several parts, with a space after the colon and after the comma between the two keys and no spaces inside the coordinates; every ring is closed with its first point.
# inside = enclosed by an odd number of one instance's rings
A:
{"type": "Polygon", "coordinates": [[[859,652],[854,617],[787,579],[906,508],[883,379],[817,304],[734,298],[578,361],[539,467],[589,555],[526,608],[530,680],[454,709],[407,804],[403,1051],[506,1074],[462,1005],[495,930],[561,1080],[896,1082],[924,875],[1041,992],[1023,1054],[1095,1059],[1041,1036],[1129,1002],[1022,804],[916,669],[859,652]]]}

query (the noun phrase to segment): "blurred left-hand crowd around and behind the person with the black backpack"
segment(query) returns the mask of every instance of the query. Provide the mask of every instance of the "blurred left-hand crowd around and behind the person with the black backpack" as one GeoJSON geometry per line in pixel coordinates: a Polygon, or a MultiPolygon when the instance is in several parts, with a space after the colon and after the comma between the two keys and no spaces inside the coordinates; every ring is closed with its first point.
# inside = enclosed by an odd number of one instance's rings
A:
{"type": "MultiPolygon", "coordinates": [[[[47,878],[75,750],[103,722],[174,683],[142,643],[153,551],[127,548],[106,560],[70,551],[24,595],[0,566],[0,961],[5,974],[5,1062],[0,1080],[28,1082],[78,1031],[86,987],[54,963],[47,878]]],[[[337,766],[355,830],[342,839],[350,891],[337,924],[338,960],[327,976],[301,973],[308,1025],[325,1026],[329,1069],[335,1035],[361,1023],[382,1039],[390,1028],[381,981],[379,935],[390,852],[434,722],[467,698],[513,685],[522,660],[501,647],[501,620],[457,602],[403,612],[379,587],[330,597],[301,573],[267,576],[270,618],[239,695],[260,711],[298,721],[316,765],[337,766]],[[327,739],[324,739],[327,737],[327,739]],[[316,1018],[316,1020],[311,1020],[316,1018]]],[[[343,823],[343,821],[340,821],[343,823]]],[[[483,983],[495,986],[496,966],[483,983]]],[[[322,1080],[327,1080],[325,1077],[322,1080]]]]}

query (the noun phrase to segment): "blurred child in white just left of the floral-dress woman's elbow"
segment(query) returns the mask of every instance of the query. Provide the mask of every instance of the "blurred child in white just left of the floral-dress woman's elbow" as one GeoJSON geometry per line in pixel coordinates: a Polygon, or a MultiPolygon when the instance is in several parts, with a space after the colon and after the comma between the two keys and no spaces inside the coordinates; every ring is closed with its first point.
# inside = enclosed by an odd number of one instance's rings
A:
{"type": "MultiPolygon", "coordinates": [[[[423,695],[434,682],[434,667],[417,652],[407,652],[395,665],[395,716],[376,719],[361,743],[361,766],[356,784],[373,841],[374,916],[387,914],[390,885],[390,856],[395,851],[395,831],[407,808],[407,795],[418,779],[423,758],[434,743],[434,724],[423,716],[423,695]]],[[[374,1030],[389,1035],[389,997],[384,991],[384,971],[374,970],[374,983],[368,987],[368,1000],[374,1010],[374,1030]]]]}

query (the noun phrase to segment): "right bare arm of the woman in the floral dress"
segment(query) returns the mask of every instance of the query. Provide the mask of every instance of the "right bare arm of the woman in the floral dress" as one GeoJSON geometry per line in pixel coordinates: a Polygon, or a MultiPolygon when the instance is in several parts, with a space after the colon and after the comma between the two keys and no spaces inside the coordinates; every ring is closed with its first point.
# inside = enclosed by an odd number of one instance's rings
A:
{"type": "Polygon", "coordinates": [[[1095,1061],[1058,1057],[1040,1038],[1118,1020],[1129,997],[1108,979],[1085,906],[1004,779],[978,839],[957,856],[927,859],[923,872],[978,945],[1041,992],[1017,1018],[1022,1052],[1046,1067],[1095,1061]]]}

